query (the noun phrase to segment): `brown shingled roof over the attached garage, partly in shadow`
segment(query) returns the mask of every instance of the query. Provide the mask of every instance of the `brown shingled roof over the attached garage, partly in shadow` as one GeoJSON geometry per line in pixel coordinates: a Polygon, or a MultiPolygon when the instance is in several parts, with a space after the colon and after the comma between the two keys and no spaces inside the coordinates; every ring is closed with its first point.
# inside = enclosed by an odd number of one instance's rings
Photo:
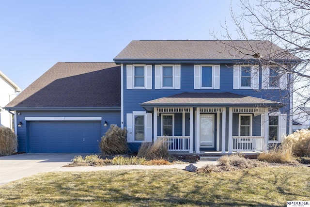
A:
{"type": "Polygon", "coordinates": [[[115,63],[57,63],[5,108],[120,108],[120,71],[115,63]]]}

